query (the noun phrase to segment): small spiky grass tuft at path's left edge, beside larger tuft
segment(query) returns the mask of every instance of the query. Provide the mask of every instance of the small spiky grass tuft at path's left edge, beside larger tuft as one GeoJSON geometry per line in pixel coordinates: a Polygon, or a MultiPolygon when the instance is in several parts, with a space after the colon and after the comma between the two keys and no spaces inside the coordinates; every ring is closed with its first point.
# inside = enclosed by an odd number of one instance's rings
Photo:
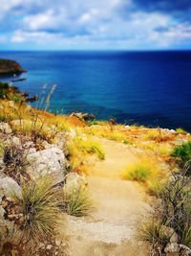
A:
{"type": "Polygon", "coordinates": [[[64,189],[64,210],[69,215],[76,217],[87,216],[93,209],[93,201],[88,196],[87,188],[64,189]]]}

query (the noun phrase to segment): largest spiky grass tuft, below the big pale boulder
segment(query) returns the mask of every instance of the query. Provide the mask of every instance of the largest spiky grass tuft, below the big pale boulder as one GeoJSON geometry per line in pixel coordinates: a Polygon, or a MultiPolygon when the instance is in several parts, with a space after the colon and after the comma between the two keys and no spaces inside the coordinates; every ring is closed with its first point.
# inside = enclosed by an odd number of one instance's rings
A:
{"type": "Polygon", "coordinates": [[[21,216],[16,223],[26,239],[40,241],[50,239],[55,234],[59,199],[50,176],[40,177],[35,183],[22,185],[22,197],[14,195],[13,200],[17,216],[21,216]]]}

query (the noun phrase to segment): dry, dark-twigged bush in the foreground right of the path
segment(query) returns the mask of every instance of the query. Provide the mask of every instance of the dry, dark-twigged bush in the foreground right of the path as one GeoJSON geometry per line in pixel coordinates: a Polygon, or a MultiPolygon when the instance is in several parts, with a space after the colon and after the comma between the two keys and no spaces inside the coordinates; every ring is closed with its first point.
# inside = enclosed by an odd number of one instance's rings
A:
{"type": "Polygon", "coordinates": [[[152,221],[146,221],[141,227],[142,239],[152,245],[152,255],[163,255],[165,246],[173,243],[173,236],[174,243],[181,247],[191,246],[190,184],[185,169],[173,175],[160,190],[152,221]]]}

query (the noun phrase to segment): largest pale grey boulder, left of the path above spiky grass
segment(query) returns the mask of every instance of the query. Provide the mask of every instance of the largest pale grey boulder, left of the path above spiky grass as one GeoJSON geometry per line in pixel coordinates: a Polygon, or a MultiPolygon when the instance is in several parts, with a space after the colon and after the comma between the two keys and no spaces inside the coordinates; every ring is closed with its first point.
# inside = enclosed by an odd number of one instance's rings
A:
{"type": "Polygon", "coordinates": [[[27,173],[33,180],[42,175],[52,175],[53,184],[60,183],[67,174],[67,160],[63,151],[50,148],[44,151],[30,149],[27,155],[27,173]]]}

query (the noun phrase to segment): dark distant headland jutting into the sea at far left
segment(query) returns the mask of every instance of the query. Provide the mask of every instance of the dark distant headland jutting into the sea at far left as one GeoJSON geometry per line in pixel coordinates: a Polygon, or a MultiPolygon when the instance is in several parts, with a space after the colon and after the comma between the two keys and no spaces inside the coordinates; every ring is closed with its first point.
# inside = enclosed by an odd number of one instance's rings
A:
{"type": "Polygon", "coordinates": [[[23,72],[27,72],[27,70],[23,69],[15,60],[0,58],[0,77],[19,75],[23,72]]]}

